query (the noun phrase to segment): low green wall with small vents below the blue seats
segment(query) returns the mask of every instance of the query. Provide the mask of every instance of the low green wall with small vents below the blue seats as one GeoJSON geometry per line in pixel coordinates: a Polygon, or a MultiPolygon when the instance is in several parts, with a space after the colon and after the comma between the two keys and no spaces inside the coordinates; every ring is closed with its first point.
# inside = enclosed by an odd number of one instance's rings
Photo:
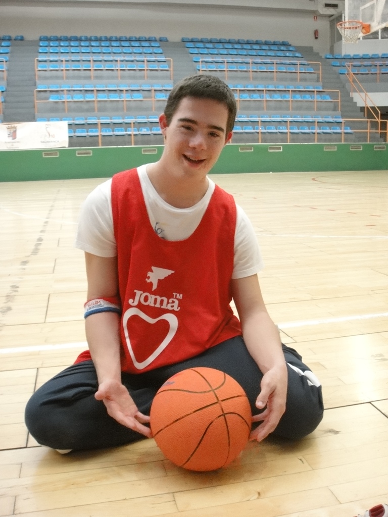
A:
{"type": "MultiPolygon", "coordinates": [[[[0,151],[0,181],[109,177],[157,161],[162,150],[135,146],[0,151]],[[85,151],[91,155],[84,156],[85,151]]],[[[387,144],[228,144],[212,174],[387,169],[387,144]]]]}

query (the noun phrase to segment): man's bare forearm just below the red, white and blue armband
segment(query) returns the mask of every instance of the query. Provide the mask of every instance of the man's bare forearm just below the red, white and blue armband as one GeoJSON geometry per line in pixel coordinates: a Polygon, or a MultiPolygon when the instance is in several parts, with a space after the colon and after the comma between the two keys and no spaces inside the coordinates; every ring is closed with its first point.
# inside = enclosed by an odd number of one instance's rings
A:
{"type": "Polygon", "coordinates": [[[121,382],[120,317],[114,312],[92,314],[85,320],[86,339],[98,382],[121,382]]]}

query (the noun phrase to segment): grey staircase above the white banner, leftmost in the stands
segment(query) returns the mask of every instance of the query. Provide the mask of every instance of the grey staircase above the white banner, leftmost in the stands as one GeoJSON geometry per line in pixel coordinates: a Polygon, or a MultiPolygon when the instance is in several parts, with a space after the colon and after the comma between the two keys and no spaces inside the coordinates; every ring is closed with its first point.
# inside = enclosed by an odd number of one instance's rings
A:
{"type": "Polygon", "coordinates": [[[12,41],[7,72],[7,94],[3,104],[3,121],[35,121],[35,58],[39,41],[12,41]]]}

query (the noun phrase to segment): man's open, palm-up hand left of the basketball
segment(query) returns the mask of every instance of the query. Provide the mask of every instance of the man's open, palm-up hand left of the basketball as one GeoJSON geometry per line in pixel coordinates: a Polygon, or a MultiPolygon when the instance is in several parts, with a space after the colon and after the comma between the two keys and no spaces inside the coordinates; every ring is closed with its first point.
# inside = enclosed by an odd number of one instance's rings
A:
{"type": "Polygon", "coordinates": [[[133,402],[127,388],[117,381],[103,381],[95,393],[96,400],[102,400],[108,415],[118,423],[133,431],[152,438],[151,429],[144,423],[150,422],[150,417],[143,415],[133,402]]]}

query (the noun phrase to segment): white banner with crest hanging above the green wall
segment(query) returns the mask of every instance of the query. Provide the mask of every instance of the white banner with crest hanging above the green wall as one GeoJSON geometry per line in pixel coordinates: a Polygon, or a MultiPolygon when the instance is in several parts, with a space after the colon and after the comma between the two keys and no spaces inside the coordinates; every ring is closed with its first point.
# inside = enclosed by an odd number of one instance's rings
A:
{"type": "Polygon", "coordinates": [[[0,124],[0,149],[52,149],[68,146],[67,122],[0,124]]]}

